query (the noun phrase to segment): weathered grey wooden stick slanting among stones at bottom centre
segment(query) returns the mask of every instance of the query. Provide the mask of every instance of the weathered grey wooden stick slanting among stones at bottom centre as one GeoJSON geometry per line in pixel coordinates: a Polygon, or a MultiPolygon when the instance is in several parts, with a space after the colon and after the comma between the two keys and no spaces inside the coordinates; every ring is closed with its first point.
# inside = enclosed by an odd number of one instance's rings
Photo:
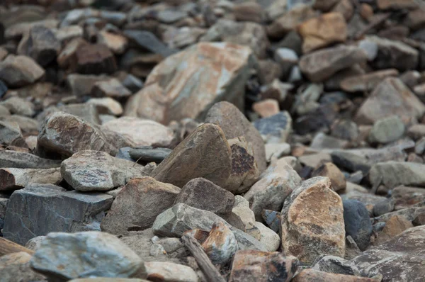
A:
{"type": "Polygon", "coordinates": [[[188,248],[198,263],[200,270],[204,273],[208,282],[226,282],[220,272],[215,268],[210,258],[205,254],[199,242],[191,235],[185,234],[181,237],[183,244],[188,248]]]}

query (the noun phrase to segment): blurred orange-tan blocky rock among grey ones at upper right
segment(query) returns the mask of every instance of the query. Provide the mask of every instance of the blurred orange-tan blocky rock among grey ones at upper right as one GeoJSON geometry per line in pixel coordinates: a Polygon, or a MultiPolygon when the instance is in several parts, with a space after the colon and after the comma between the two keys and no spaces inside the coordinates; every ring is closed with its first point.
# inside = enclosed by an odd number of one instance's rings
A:
{"type": "Polygon", "coordinates": [[[347,26],[341,13],[324,13],[311,18],[298,26],[303,38],[302,52],[308,53],[332,43],[344,42],[347,38],[347,26]]]}

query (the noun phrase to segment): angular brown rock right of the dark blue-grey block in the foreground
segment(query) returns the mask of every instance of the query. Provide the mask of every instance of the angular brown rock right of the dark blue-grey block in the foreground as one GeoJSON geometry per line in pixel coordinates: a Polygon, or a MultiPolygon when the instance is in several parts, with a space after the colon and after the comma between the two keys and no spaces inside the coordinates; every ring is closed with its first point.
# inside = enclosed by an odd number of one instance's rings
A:
{"type": "Polygon", "coordinates": [[[115,235],[152,227],[157,215],[170,208],[180,188],[151,177],[132,179],[116,196],[101,230],[115,235]]]}

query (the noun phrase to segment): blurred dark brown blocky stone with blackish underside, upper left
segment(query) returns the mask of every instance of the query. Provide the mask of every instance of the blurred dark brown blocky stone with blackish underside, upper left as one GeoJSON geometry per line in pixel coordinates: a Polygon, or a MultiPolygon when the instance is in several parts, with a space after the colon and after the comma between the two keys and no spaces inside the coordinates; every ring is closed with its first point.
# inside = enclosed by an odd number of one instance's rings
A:
{"type": "Polygon", "coordinates": [[[80,74],[111,74],[117,70],[113,53],[106,45],[80,45],[75,52],[80,74]]]}

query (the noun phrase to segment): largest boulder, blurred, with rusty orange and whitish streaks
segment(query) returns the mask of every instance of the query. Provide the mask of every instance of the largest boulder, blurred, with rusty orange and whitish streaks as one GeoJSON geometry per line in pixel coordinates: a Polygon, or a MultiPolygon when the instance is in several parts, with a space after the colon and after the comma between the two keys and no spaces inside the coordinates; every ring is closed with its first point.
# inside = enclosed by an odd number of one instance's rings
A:
{"type": "Polygon", "coordinates": [[[145,87],[129,99],[125,115],[168,124],[183,118],[202,119],[217,101],[229,101],[243,108],[243,85],[253,60],[249,47],[232,43],[188,47],[154,67],[145,87]],[[187,62],[191,62],[188,67],[187,62]],[[162,93],[160,100],[158,93],[162,93]]]}

